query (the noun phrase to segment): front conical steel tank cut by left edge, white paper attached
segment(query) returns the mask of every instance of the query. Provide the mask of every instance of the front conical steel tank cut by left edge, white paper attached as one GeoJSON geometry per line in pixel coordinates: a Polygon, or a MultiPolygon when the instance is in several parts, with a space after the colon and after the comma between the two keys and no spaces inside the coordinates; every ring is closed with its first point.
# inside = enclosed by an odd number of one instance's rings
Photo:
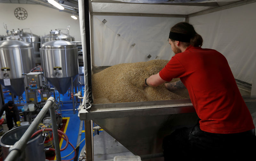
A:
{"type": "Polygon", "coordinates": [[[35,64],[31,44],[19,40],[0,41],[0,83],[14,95],[24,92],[24,76],[35,64]]]}

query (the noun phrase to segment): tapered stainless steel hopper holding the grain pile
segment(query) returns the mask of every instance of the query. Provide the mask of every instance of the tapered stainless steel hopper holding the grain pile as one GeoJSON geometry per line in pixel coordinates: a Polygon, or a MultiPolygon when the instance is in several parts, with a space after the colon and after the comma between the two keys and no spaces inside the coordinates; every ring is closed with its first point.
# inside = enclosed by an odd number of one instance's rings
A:
{"type": "MultiPolygon", "coordinates": [[[[256,99],[244,97],[244,101],[255,113],[256,99]]],[[[95,104],[90,112],[81,109],[79,116],[80,120],[94,121],[134,155],[142,157],[161,156],[164,136],[176,128],[192,127],[198,120],[190,99],[95,104]]]]}

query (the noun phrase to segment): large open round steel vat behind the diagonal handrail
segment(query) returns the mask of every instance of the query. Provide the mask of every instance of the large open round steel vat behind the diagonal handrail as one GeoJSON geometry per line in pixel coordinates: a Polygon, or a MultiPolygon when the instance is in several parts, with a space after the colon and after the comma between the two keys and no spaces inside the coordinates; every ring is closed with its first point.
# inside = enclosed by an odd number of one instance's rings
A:
{"type": "MultiPolygon", "coordinates": [[[[0,144],[2,145],[2,150],[4,154],[3,160],[9,154],[9,148],[11,148],[14,143],[20,140],[21,136],[26,132],[28,127],[29,125],[13,128],[2,136],[2,138],[0,139],[0,144]]],[[[30,138],[25,148],[25,155],[21,155],[21,157],[16,159],[16,161],[23,161],[24,157],[25,161],[45,161],[43,142],[44,139],[42,134],[37,134],[33,138],[30,138]]]]}

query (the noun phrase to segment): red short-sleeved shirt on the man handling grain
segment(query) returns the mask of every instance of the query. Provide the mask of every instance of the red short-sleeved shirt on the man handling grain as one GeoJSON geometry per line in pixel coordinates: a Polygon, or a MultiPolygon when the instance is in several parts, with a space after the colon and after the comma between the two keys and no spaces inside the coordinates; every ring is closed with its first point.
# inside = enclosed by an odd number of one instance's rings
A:
{"type": "Polygon", "coordinates": [[[201,119],[201,130],[231,134],[255,128],[228,62],[218,51],[189,46],[174,55],[159,75],[165,81],[180,78],[201,119]]]}

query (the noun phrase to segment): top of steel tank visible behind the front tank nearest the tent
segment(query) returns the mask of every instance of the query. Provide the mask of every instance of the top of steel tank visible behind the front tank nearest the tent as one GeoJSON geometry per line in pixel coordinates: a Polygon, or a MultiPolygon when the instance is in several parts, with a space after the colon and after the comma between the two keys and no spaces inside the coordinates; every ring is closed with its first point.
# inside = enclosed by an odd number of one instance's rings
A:
{"type": "Polygon", "coordinates": [[[75,41],[75,38],[73,36],[69,35],[69,29],[68,29],[68,34],[60,32],[60,30],[51,30],[50,34],[44,35],[41,37],[41,42],[45,43],[48,41],[53,41],[53,40],[66,40],[66,41],[75,41]]]}

